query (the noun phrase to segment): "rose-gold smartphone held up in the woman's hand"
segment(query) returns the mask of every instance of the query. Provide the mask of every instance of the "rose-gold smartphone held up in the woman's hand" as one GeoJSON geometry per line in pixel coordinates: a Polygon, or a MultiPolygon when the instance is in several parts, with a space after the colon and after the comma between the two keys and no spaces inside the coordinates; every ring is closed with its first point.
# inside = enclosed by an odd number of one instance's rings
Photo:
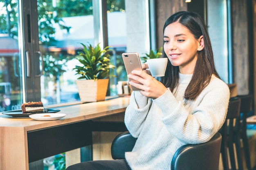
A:
{"type": "MultiPolygon", "coordinates": [[[[124,66],[125,66],[127,75],[131,74],[133,70],[142,70],[138,53],[136,52],[123,53],[122,58],[124,60],[124,66]]],[[[129,79],[129,81],[135,81],[135,80],[129,79]]],[[[134,86],[131,86],[131,88],[133,91],[141,91],[141,89],[136,88],[134,86]]]]}

